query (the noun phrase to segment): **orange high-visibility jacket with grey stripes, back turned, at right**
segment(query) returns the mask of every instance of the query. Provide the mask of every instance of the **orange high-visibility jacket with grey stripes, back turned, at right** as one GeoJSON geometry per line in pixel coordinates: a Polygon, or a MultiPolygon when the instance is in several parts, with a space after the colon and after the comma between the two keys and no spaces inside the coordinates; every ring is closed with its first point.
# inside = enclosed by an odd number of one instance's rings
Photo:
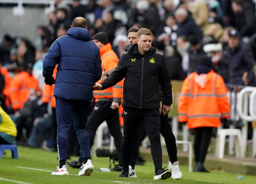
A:
{"type": "Polygon", "coordinates": [[[187,122],[188,128],[219,127],[220,117],[230,117],[230,104],[222,77],[213,71],[188,75],[181,88],[178,114],[179,122],[187,122]]]}

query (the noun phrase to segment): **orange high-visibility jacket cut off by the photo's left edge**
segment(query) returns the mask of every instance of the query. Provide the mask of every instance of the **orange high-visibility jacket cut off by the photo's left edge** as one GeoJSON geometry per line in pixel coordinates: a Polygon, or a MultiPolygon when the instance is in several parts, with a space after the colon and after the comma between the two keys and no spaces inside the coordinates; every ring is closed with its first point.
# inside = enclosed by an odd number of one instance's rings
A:
{"type": "Polygon", "coordinates": [[[6,96],[5,98],[5,105],[6,107],[9,107],[10,105],[10,93],[11,93],[11,83],[12,83],[12,77],[8,73],[8,69],[1,67],[0,73],[4,75],[4,89],[3,94],[6,96]]]}

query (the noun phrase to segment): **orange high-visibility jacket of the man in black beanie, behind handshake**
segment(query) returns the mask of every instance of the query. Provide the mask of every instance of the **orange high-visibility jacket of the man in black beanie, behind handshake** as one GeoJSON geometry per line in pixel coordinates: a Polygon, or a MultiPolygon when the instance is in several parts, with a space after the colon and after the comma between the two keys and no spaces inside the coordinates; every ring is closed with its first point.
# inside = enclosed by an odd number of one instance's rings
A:
{"type": "MultiPolygon", "coordinates": [[[[118,57],[112,50],[110,43],[100,48],[101,67],[105,67],[108,74],[110,74],[118,64],[118,57]]],[[[99,80],[97,83],[101,83],[99,80]]],[[[121,102],[123,98],[123,85],[124,80],[118,82],[115,86],[104,89],[93,91],[93,96],[98,101],[100,98],[113,98],[113,101],[121,102]]]]}

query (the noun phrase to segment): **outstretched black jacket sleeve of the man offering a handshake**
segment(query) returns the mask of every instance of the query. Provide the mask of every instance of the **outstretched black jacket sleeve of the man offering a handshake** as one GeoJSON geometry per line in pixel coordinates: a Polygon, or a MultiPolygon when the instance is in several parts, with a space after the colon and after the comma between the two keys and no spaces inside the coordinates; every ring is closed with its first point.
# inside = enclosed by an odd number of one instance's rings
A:
{"type": "Polygon", "coordinates": [[[120,58],[118,61],[118,64],[116,68],[114,69],[113,72],[100,84],[102,85],[102,90],[107,89],[111,86],[116,85],[117,82],[121,81],[124,79],[125,74],[126,74],[126,68],[125,68],[125,59],[124,55],[120,58]]]}

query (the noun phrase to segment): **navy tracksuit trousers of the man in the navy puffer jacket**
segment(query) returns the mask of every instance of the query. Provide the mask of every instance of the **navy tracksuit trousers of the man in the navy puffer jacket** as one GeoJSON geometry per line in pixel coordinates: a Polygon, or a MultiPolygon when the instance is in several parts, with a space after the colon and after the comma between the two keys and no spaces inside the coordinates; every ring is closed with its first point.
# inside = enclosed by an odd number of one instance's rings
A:
{"type": "Polygon", "coordinates": [[[91,157],[90,135],[86,119],[90,102],[66,100],[56,97],[57,148],[59,160],[67,160],[69,129],[74,124],[83,158],[91,157]]]}

